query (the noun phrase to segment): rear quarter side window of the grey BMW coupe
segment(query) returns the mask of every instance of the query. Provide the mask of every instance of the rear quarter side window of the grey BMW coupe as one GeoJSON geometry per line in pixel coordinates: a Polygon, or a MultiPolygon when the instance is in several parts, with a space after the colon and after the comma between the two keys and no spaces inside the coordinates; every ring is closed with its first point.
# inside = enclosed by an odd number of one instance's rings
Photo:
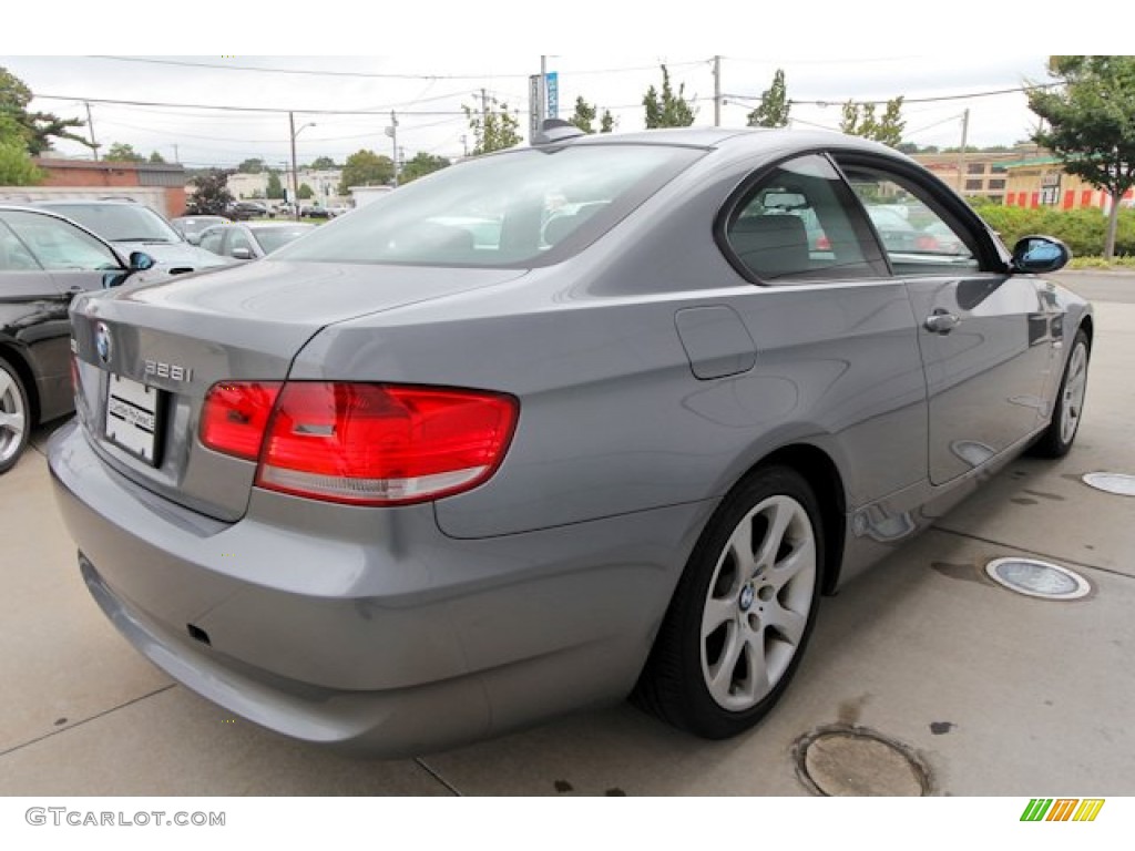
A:
{"type": "Polygon", "coordinates": [[[763,281],[833,280],[885,275],[856,227],[847,186],[831,162],[809,154],[781,163],[734,207],[725,242],[763,281]]]}

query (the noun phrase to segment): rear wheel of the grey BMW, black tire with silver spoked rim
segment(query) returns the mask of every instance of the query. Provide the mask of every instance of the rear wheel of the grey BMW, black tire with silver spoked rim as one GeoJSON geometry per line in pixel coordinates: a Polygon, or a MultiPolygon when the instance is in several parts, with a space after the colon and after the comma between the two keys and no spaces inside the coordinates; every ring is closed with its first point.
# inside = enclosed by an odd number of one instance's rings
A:
{"type": "Polygon", "coordinates": [[[754,726],[804,656],[819,604],[823,542],[819,505],[804,477],[785,466],[751,473],[693,548],[632,700],[706,739],[754,726]],[[742,565],[746,528],[750,557],[742,565]]]}

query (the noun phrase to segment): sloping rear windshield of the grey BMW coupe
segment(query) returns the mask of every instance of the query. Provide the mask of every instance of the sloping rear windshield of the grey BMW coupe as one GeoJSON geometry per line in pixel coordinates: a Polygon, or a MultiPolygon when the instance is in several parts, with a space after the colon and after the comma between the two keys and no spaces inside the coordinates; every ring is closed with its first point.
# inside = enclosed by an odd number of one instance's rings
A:
{"type": "Polygon", "coordinates": [[[701,155],[661,145],[526,149],[415,180],[272,256],[541,266],[574,254],[701,155]]]}

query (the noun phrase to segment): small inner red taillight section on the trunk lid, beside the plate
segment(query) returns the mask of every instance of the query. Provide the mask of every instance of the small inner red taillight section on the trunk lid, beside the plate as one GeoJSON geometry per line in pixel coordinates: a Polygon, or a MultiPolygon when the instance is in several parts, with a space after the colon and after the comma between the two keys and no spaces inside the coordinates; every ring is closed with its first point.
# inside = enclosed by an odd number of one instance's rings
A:
{"type": "Polygon", "coordinates": [[[280,381],[222,381],[210,387],[201,410],[201,443],[255,461],[280,387],[280,381]]]}

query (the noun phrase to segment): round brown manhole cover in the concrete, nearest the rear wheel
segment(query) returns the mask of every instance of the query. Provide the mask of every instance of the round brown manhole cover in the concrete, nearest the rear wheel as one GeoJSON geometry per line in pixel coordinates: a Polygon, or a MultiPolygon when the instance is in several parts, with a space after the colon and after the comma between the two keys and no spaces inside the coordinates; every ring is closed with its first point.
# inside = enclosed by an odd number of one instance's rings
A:
{"type": "Polygon", "coordinates": [[[813,792],[833,798],[930,793],[930,770],[906,745],[865,727],[829,727],[793,748],[797,774],[813,792]]]}

